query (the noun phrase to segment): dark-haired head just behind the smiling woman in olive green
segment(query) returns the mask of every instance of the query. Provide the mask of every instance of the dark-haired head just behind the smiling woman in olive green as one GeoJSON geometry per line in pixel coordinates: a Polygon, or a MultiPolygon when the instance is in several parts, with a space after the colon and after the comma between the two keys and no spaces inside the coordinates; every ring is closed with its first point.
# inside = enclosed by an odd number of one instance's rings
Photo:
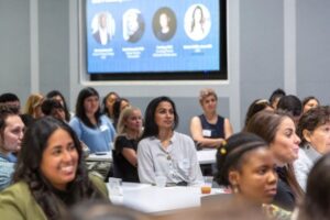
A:
{"type": "Polygon", "coordinates": [[[44,116],[54,117],[61,121],[66,122],[65,111],[59,101],[55,99],[45,99],[41,106],[44,116]]]}

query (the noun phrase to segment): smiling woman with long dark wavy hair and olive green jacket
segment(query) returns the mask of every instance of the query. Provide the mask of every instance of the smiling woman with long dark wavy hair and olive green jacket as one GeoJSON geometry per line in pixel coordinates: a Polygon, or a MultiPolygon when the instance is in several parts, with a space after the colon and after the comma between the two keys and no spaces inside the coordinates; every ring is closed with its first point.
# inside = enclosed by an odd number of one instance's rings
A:
{"type": "Polygon", "coordinates": [[[26,131],[13,182],[0,194],[3,219],[62,219],[81,200],[108,198],[103,182],[88,176],[73,129],[51,117],[26,131]]]}

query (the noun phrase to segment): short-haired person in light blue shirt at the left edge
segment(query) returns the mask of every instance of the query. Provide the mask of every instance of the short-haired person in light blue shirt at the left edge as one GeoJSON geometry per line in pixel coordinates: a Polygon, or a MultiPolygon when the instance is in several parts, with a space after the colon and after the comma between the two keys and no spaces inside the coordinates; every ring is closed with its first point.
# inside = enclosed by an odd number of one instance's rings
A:
{"type": "Polygon", "coordinates": [[[0,191],[11,184],[16,153],[21,148],[24,124],[16,111],[0,106],[0,191]]]}

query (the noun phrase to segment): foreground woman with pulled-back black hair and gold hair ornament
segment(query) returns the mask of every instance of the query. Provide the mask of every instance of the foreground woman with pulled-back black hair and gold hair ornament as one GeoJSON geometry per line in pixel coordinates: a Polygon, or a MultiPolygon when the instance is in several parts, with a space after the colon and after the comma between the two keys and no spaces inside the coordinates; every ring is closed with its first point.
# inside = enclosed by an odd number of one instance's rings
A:
{"type": "MultiPolygon", "coordinates": [[[[217,151],[219,185],[229,186],[235,205],[244,204],[260,211],[268,210],[276,195],[277,174],[275,158],[267,143],[252,133],[237,133],[222,142],[217,151]]],[[[283,215],[285,211],[267,211],[268,215],[283,215]]],[[[285,212],[289,216],[289,212],[285,212]]]]}

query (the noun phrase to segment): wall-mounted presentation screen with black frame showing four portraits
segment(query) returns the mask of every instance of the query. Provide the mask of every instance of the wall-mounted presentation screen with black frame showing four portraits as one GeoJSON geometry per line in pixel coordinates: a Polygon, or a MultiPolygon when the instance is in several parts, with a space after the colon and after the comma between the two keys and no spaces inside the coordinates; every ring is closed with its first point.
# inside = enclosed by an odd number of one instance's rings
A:
{"type": "Polygon", "coordinates": [[[227,79],[226,0],[86,0],[91,80],[227,79]]]}

